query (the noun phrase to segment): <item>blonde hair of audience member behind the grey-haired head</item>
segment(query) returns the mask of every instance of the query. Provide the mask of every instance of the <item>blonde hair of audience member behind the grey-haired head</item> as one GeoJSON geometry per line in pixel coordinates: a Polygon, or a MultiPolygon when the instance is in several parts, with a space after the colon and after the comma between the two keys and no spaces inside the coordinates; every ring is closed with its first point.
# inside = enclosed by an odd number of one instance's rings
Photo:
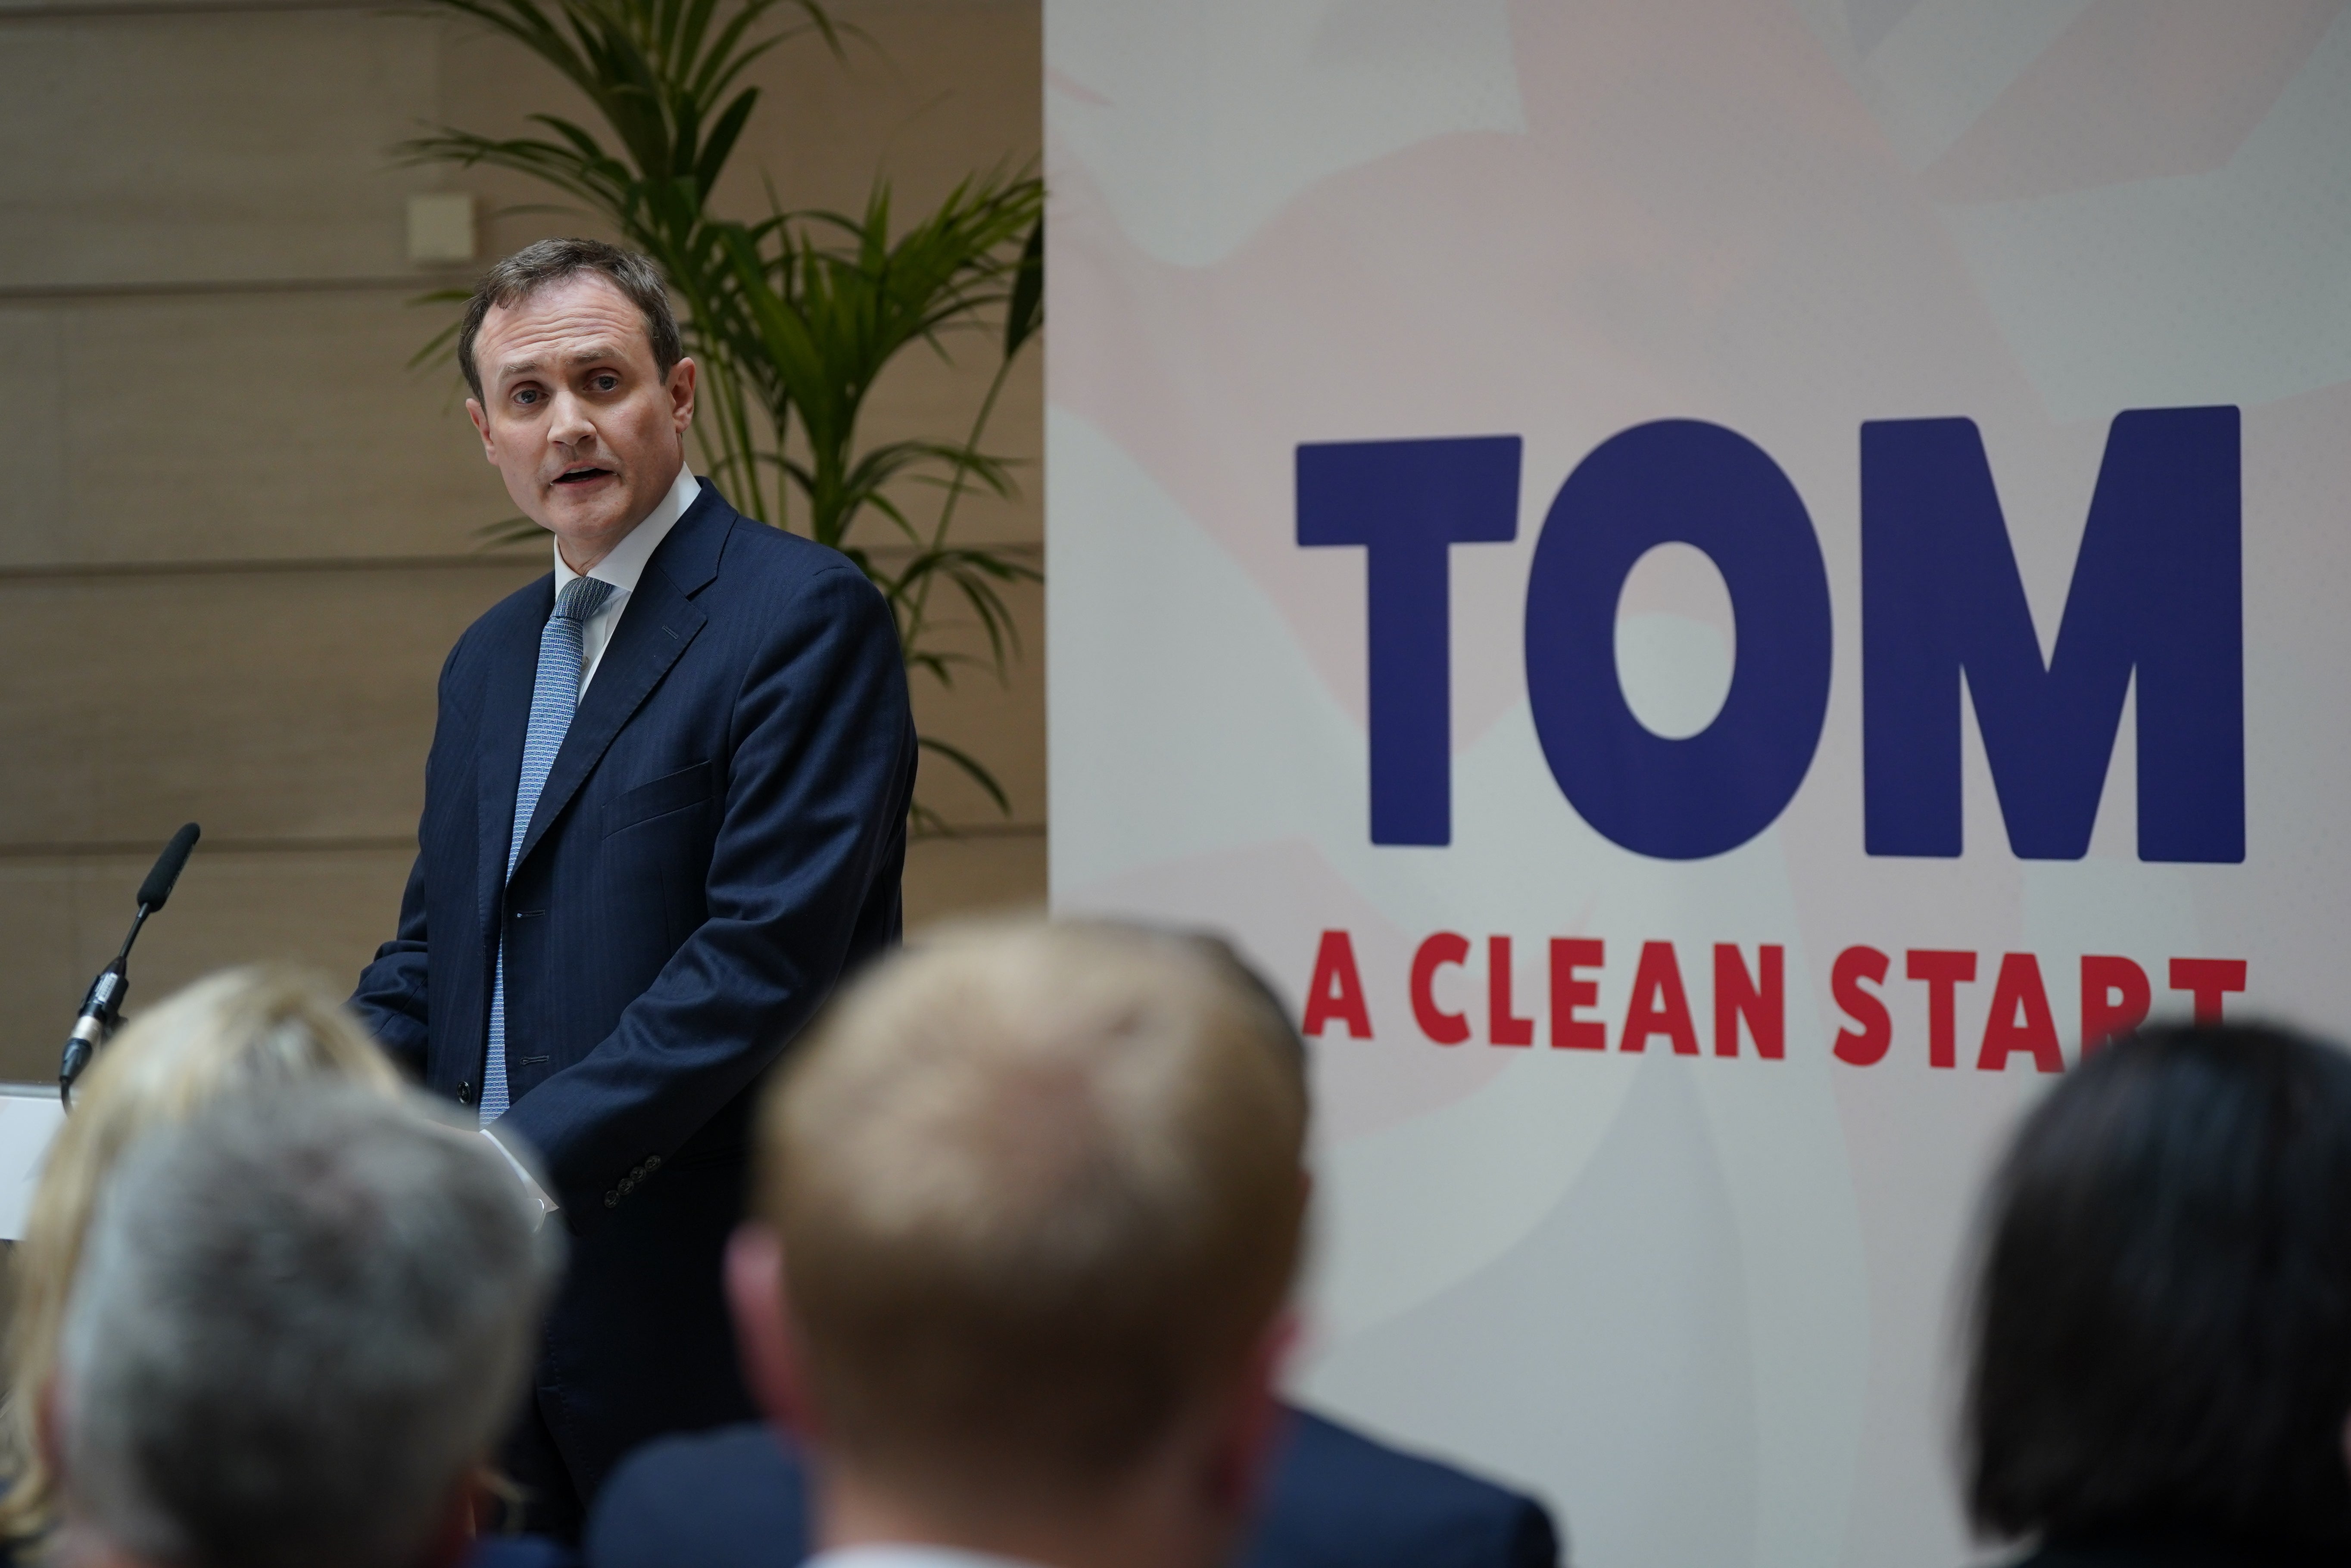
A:
{"type": "Polygon", "coordinates": [[[99,1051],[73,1095],[33,1190],[14,1255],[7,1331],[0,1552],[35,1552],[56,1528],[54,1479],[35,1432],[40,1389],[56,1368],[66,1293],[82,1260],[99,1190],[146,1131],[176,1126],[228,1091],[346,1079],[400,1093],[400,1074],[322,978],[299,969],[223,969],[139,1013],[99,1051]]]}

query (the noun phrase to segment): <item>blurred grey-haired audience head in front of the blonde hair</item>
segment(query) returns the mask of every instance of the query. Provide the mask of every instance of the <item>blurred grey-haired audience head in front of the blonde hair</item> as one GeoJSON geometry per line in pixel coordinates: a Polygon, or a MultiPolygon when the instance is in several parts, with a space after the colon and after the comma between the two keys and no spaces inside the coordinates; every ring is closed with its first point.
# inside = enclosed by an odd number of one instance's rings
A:
{"type": "Polygon", "coordinates": [[[341,1084],[143,1138],[89,1222],[45,1436],[66,1542],[176,1568],[470,1547],[555,1279],[487,1140],[341,1084]]]}

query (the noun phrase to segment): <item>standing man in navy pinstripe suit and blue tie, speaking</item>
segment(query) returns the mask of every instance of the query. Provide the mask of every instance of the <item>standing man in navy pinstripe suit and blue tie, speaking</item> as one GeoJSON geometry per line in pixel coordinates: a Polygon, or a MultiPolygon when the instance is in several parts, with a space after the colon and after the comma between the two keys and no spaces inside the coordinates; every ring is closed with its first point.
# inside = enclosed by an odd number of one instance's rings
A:
{"type": "Polygon", "coordinates": [[[353,1006],[571,1229],[503,1462],[576,1535],[628,1448],[750,1415],[719,1255],[752,1086],[898,938],[915,726],[889,607],[686,470],[694,360],[642,256],[548,240],[458,336],[552,571],[440,679],[416,870],[353,1006]]]}

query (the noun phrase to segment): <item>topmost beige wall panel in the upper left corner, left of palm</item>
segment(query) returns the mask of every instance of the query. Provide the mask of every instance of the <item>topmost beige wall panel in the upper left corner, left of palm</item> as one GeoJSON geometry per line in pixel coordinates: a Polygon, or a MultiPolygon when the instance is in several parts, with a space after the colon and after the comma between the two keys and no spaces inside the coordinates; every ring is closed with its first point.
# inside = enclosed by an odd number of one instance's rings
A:
{"type": "Polygon", "coordinates": [[[390,146],[433,24],[367,9],[0,16],[0,287],[411,273],[390,146]],[[38,155],[24,155],[38,148],[38,155]]]}

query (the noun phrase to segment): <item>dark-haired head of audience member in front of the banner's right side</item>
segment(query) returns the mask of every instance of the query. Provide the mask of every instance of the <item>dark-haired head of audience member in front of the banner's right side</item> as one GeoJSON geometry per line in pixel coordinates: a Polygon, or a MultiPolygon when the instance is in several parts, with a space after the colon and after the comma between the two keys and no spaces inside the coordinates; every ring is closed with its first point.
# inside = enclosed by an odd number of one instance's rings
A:
{"type": "Polygon", "coordinates": [[[2034,1568],[2351,1561],[2351,1056],[2142,1030],[2010,1145],[1965,1493],[2034,1568]]]}

